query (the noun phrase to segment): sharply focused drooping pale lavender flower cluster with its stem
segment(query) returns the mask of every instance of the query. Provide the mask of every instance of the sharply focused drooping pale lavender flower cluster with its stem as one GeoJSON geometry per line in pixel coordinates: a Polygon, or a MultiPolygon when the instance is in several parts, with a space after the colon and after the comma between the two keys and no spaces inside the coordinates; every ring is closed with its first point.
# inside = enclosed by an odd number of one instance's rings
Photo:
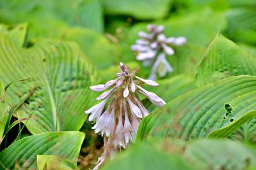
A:
{"type": "Polygon", "coordinates": [[[99,158],[95,169],[98,169],[104,160],[113,155],[116,150],[125,148],[130,142],[134,142],[141,119],[149,113],[141,103],[138,93],[157,106],[166,104],[156,94],[143,89],[144,84],[150,86],[158,86],[158,84],[136,76],[138,68],[130,71],[129,66],[120,62],[119,69],[120,73],[116,73],[115,80],[110,80],[104,85],[90,87],[96,92],[106,90],[96,98],[101,102],[85,111],[86,114],[90,114],[88,120],[96,122],[92,129],[104,136],[104,153],[99,158]],[[108,106],[106,106],[107,103],[108,106]]]}

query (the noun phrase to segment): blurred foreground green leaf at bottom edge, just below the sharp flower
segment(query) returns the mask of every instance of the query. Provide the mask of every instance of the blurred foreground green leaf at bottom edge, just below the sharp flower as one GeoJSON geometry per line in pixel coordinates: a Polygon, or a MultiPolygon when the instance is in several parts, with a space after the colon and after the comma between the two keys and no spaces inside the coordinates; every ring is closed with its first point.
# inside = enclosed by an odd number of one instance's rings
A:
{"type": "Polygon", "coordinates": [[[102,170],[134,169],[134,170],[154,170],[154,169],[194,169],[193,166],[177,155],[170,155],[161,152],[148,143],[132,145],[124,153],[110,160],[102,170]]]}

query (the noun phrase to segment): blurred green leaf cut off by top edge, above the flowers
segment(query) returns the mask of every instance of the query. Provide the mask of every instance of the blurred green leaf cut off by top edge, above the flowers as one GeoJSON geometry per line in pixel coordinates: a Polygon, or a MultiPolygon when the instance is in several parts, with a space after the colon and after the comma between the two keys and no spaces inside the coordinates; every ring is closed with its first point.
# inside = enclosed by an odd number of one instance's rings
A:
{"type": "Polygon", "coordinates": [[[131,15],[141,20],[163,18],[168,15],[171,8],[171,0],[162,1],[126,1],[104,0],[104,8],[109,15],[131,15]]]}

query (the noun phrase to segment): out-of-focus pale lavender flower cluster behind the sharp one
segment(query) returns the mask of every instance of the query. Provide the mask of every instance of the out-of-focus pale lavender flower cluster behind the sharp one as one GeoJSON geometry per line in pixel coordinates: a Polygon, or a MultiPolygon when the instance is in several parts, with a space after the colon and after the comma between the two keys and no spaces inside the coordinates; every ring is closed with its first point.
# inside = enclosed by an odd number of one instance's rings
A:
{"type": "Polygon", "coordinates": [[[166,55],[174,54],[174,50],[170,45],[184,45],[186,38],[166,38],[163,34],[163,25],[149,24],[147,30],[149,34],[143,31],[138,33],[140,39],[136,41],[136,45],[131,46],[131,49],[138,54],[136,59],[143,61],[144,66],[152,66],[150,80],[156,80],[157,73],[159,76],[164,77],[168,72],[173,71],[172,66],[166,60],[166,55]]]}

